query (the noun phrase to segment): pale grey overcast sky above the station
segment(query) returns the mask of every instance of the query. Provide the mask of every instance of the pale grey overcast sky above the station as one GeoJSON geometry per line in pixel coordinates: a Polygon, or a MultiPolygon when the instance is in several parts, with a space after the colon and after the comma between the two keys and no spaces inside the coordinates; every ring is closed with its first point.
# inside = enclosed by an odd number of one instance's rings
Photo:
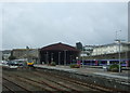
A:
{"type": "Polygon", "coordinates": [[[2,49],[107,44],[118,30],[118,38],[128,39],[127,2],[11,2],[0,9],[2,49]]]}

